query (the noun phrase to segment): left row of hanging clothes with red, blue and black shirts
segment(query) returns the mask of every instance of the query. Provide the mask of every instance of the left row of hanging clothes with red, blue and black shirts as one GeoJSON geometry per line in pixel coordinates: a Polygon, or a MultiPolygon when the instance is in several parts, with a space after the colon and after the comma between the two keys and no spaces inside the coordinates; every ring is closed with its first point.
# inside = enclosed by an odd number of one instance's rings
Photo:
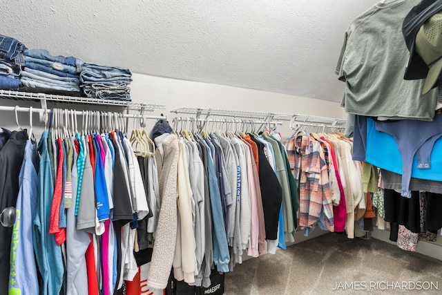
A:
{"type": "Polygon", "coordinates": [[[14,109],[17,130],[0,133],[0,289],[118,294],[150,260],[155,237],[155,158],[137,158],[132,146],[146,133],[131,142],[128,115],[99,112],[83,112],[78,132],[78,111],[53,109],[37,144],[32,120],[28,135],[14,109]]]}

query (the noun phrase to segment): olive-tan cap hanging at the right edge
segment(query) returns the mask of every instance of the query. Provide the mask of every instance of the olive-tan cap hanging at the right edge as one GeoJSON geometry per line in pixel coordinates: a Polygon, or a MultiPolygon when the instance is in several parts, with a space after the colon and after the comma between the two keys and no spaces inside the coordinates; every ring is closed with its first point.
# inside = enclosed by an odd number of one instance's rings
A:
{"type": "Polygon", "coordinates": [[[416,35],[416,53],[428,66],[422,94],[437,86],[442,71],[442,12],[423,23],[416,35]]]}

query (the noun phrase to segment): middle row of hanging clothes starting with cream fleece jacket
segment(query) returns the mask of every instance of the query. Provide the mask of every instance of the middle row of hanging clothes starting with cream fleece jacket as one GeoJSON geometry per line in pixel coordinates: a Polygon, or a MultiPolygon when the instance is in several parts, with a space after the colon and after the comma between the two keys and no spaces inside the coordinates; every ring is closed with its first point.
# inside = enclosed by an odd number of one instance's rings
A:
{"type": "Polygon", "coordinates": [[[175,133],[155,138],[162,196],[148,275],[155,289],[166,287],[171,267],[177,280],[207,287],[211,269],[232,271],[244,250],[258,257],[265,240],[270,253],[285,249],[297,224],[296,182],[277,131],[258,135],[249,124],[208,133],[191,124],[178,133],[177,121],[175,133]]]}

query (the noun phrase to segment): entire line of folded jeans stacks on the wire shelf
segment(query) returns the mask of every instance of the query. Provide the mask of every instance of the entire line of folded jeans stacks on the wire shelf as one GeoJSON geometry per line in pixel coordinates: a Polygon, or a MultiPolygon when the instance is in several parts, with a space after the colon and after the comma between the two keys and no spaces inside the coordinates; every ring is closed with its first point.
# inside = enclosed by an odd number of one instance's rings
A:
{"type": "Polygon", "coordinates": [[[0,89],[131,101],[131,70],[28,49],[0,35],[0,89]]]}

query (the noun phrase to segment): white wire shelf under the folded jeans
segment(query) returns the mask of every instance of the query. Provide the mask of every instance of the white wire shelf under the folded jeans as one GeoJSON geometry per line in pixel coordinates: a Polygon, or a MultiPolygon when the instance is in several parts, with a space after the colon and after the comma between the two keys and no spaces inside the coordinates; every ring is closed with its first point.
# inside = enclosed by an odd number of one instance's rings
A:
{"type": "Polygon", "coordinates": [[[10,91],[10,90],[0,90],[0,97],[3,99],[15,99],[15,100],[18,99],[39,100],[41,101],[42,108],[44,108],[44,104],[46,104],[46,101],[61,102],[68,104],[75,103],[75,104],[93,104],[93,105],[102,105],[102,106],[125,106],[131,109],[140,109],[144,107],[146,111],[154,111],[155,109],[166,108],[164,104],[144,104],[144,103],[127,102],[123,100],[114,100],[114,99],[52,95],[46,93],[28,93],[28,92],[10,91]]]}

